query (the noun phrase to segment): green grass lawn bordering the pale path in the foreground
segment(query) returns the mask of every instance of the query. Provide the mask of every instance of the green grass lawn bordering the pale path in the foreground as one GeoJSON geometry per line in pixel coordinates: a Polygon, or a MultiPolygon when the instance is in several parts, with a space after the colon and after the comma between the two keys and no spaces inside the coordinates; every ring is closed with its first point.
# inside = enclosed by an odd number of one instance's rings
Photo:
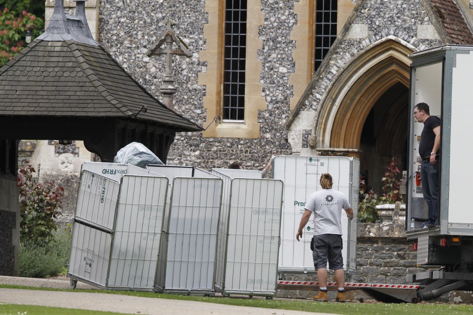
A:
{"type": "MultiPolygon", "coordinates": [[[[97,292],[97,293],[108,293],[108,294],[122,294],[140,297],[150,298],[165,298],[173,300],[187,300],[187,301],[200,301],[208,303],[219,303],[236,306],[249,306],[249,307],[260,307],[280,310],[293,310],[293,311],[305,311],[305,312],[319,312],[319,313],[332,313],[332,314],[344,314],[344,315],[365,315],[365,314],[408,314],[408,315],[425,315],[425,314],[437,314],[437,315],[471,315],[473,314],[473,306],[467,304],[440,304],[440,303],[418,303],[418,304],[384,304],[384,303],[358,303],[358,302],[313,302],[311,300],[265,300],[261,298],[238,298],[238,297],[203,297],[203,296],[186,296],[186,295],[174,295],[174,294],[159,294],[154,292],[136,292],[136,291],[109,291],[109,290],[57,290],[47,288],[36,288],[36,287],[25,287],[18,285],[0,285],[5,288],[22,288],[22,289],[34,289],[34,290],[51,290],[51,291],[76,291],[76,292],[97,292]]],[[[0,297],[1,300],[1,297],[0,297]]],[[[0,305],[0,314],[21,314],[24,306],[16,306],[13,313],[4,313],[4,305],[0,305]],[[19,313],[18,313],[19,312],[19,313]]],[[[28,307],[29,308],[29,307],[28,307]]],[[[36,307],[35,307],[36,308],[36,307]]],[[[75,314],[69,313],[56,313],[51,311],[52,308],[37,307],[38,310],[44,309],[44,313],[33,313],[28,311],[28,315],[31,314],[75,314]]],[[[59,312],[61,312],[61,309],[59,312]]],[[[63,309],[64,311],[64,309],[63,309]]],[[[38,311],[39,312],[39,311],[38,311]]],[[[83,312],[83,311],[81,311],[83,312]]],[[[84,314],[84,313],[81,313],[84,314]]],[[[87,314],[95,314],[87,313],[87,314]]],[[[113,313],[100,313],[100,314],[113,314],[113,313]]]]}

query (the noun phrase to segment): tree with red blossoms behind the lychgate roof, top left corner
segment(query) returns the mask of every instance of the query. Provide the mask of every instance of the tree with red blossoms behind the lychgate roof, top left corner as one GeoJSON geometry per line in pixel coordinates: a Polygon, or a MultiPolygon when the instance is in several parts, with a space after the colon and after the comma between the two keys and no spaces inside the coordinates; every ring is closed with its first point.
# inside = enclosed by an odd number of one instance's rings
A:
{"type": "MultiPolygon", "coordinates": [[[[22,4],[29,1],[20,2],[22,4]]],[[[2,6],[0,5],[0,7],[2,6]]],[[[0,67],[25,48],[25,35],[28,28],[32,32],[32,38],[35,38],[41,34],[41,30],[44,27],[42,19],[25,9],[20,10],[21,7],[21,5],[15,4],[14,8],[18,11],[13,11],[4,6],[0,11],[0,67]],[[34,27],[31,27],[32,25],[34,27]]]]}

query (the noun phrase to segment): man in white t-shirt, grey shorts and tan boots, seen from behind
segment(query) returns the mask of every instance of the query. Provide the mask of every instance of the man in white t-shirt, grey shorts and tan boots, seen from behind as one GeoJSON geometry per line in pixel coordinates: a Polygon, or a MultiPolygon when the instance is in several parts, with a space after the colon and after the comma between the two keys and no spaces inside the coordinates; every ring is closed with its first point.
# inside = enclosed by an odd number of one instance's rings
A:
{"type": "Polygon", "coordinates": [[[343,243],[341,240],[341,211],[345,210],[346,215],[353,220],[353,209],[345,194],[333,190],[332,176],[328,173],[320,176],[322,190],[310,194],[305,203],[305,212],[302,215],[296,239],[302,237],[305,224],[314,214],[314,236],[312,253],[314,267],[317,271],[320,292],[314,296],[316,301],[328,301],[327,295],[327,261],[329,268],[335,273],[335,280],[338,285],[337,301],[345,302],[345,272],[343,271],[343,257],[341,250],[343,243]]]}

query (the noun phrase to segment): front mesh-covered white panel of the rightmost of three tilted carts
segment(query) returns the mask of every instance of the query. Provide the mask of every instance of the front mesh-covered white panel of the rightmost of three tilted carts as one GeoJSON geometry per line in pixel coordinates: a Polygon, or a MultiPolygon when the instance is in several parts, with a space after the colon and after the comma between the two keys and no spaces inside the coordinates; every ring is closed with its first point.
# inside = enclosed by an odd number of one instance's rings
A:
{"type": "Polygon", "coordinates": [[[225,292],[275,294],[282,189],[281,181],[232,181],[225,292]]]}

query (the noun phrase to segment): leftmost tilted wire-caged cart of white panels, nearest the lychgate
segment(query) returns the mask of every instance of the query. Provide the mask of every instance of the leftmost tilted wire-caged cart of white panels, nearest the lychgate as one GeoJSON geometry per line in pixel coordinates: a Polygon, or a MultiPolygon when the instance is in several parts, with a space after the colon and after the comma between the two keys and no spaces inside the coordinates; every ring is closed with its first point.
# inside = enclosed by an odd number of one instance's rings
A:
{"type": "Polygon", "coordinates": [[[154,290],[168,179],[128,164],[82,165],[68,277],[154,290]]]}

